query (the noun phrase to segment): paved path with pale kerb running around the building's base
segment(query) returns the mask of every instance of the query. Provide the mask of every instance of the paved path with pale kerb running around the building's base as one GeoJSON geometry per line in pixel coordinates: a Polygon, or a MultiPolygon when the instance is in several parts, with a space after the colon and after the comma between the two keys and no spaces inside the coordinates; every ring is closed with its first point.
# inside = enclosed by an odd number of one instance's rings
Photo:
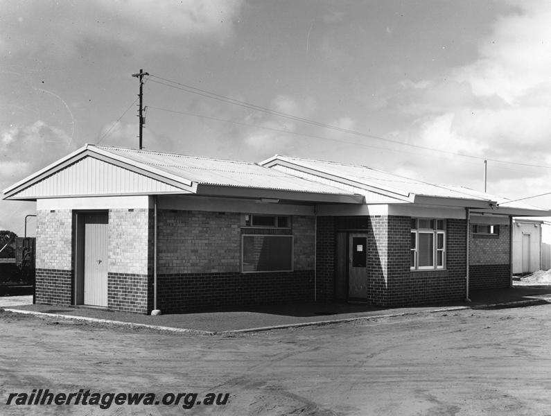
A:
{"type": "MultiPolygon", "coordinates": [[[[26,298],[29,302],[32,300],[32,297],[26,298]]],[[[12,299],[15,299],[15,297],[12,299]]],[[[473,293],[472,302],[470,303],[458,302],[455,304],[408,308],[377,308],[365,304],[347,303],[303,303],[150,316],[84,307],[33,305],[24,304],[24,302],[19,306],[2,306],[0,303],[0,307],[7,311],[50,316],[56,319],[213,335],[216,333],[267,331],[270,329],[335,324],[356,320],[374,320],[376,318],[420,313],[530,306],[543,303],[551,303],[551,286],[479,291],[473,293]]]]}

